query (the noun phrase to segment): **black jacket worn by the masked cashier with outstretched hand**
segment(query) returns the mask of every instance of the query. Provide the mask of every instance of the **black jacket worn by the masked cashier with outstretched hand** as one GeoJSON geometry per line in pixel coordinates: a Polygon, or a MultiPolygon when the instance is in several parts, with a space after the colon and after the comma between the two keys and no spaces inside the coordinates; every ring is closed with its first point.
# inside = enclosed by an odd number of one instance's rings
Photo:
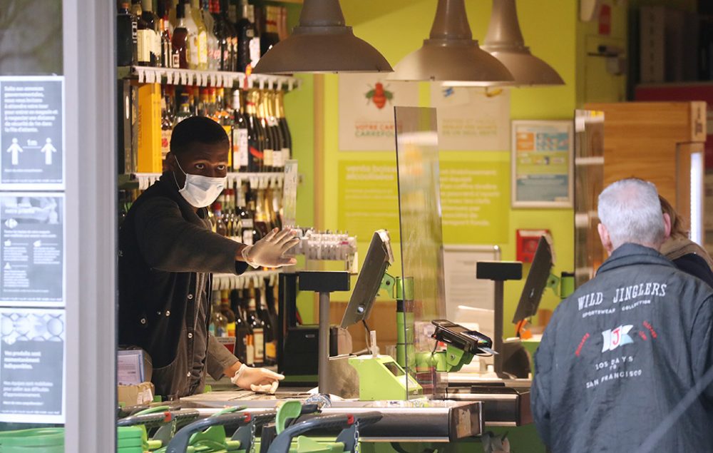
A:
{"type": "MultiPolygon", "coordinates": [[[[198,213],[205,218],[205,209],[198,213]]],[[[176,357],[186,302],[198,297],[195,273],[247,269],[235,261],[238,244],[207,230],[202,218],[178,193],[173,175],[164,173],[119,229],[119,344],[142,347],[155,368],[176,357]]]]}

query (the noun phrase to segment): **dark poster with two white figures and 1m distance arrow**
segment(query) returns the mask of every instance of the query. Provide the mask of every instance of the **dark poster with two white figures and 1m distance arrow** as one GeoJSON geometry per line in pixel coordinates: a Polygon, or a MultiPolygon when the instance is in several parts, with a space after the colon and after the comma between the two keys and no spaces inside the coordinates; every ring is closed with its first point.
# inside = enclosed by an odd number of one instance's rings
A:
{"type": "Polygon", "coordinates": [[[61,190],[64,79],[0,77],[0,188],[61,190]]]}

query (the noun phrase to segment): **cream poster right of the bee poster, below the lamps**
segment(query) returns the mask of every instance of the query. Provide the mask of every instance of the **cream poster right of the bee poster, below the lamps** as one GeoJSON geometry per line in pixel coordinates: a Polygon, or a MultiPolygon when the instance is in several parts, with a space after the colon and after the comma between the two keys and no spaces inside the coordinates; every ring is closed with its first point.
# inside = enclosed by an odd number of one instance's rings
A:
{"type": "Polygon", "coordinates": [[[438,109],[438,146],[444,151],[507,151],[510,148],[510,91],[504,88],[431,83],[438,109]]]}

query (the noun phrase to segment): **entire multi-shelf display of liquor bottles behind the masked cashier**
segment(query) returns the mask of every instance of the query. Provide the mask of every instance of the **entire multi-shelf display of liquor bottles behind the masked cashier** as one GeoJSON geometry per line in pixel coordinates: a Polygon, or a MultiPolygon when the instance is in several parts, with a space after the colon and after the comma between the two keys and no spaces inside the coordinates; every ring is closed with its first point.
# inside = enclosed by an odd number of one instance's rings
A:
{"type": "MultiPolygon", "coordinates": [[[[259,20],[269,22],[260,24],[266,49],[284,37],[283,13],[275,6],[260,10],[259,20]]],[[[119,65],[141,66],[131,68],[120,88],[125,102],[119,161],[128,178],[120,179],[119,222],[148,187],[145,181],[167,169],[173,128],[190,116],[206,116],[230,141],[226,187],[205,211],[212,230],[252,245],[281,227],[282,178],[272,173],[282,172],[291,154],[283,86],[273,89],[275,79],[260,75],[250,76],[244,86],[222,86],[237,75],[213,72],[250,75],[262,56],[255,7],[247,0],[131,0],[119,4],[116,21],[119,65]],[[148,83],[145,74],[155,74],[156,83],[148,83]]],[[[230,280],[231,289],[208,289],[210,332],[250,366],[277,364],[276,277],[275,270],[249,268],[240,280],[245,283],[230,280]],[[242,289],[234,289],[238,285],[242,289]]]]}

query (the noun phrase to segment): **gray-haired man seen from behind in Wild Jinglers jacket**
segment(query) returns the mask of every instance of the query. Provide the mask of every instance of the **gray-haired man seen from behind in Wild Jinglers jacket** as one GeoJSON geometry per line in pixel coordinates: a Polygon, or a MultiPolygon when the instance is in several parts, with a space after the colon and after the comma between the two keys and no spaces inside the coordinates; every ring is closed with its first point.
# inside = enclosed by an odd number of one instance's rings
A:
{"type": "Polygon", "coordinates": [[[610,257],[555,310],[535,353],[535,424],[552,452],[713,447],[713,289],[658,248],[670,231],[655,185],[599,196],[610,257]]]}

